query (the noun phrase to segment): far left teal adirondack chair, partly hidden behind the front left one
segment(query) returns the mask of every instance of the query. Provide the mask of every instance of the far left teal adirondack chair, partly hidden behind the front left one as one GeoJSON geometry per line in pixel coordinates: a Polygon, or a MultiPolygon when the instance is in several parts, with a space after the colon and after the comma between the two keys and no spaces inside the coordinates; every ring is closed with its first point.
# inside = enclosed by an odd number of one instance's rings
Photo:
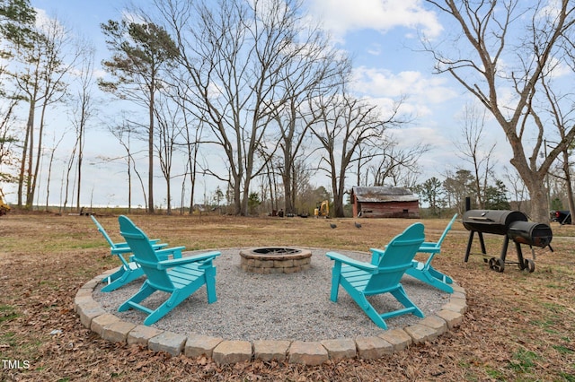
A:
{"type": "MultiPolygon", "coordinates": [[[[124,258],[124,255],[132,252],[128,243],[114,243],[110,238],[110,235],[108,235],[108,232],[106,232],[102,227],[102,224],[100,224],[100,221],[97,221],[93,215],[90,215],[90,217],[100,233],[102,233],[104,239],[106,239],[108,244],[110,244],[111,255],[118,256],[119,261],[122,263],[118,268],[118,271],[102,279],[102,282],[107,284],[102,288],[102,291],[116,291],[118,288],[128,284],[129,282],[133,282],[137,278],[142,277],[144,275],[144,271],[140,266],[132,261],[131,258],[129,261],[124,258]]],[[[161,249],[168,246],[167,243],[159,243],[159,241],[159,239],[150,240],[154,249],[161,249]]],[[[171,255],[174,257],[181,257],[181,251],[174,251],[171,255]]],[[[165,258],[167,258],[167,256],[165,258]]]]}

